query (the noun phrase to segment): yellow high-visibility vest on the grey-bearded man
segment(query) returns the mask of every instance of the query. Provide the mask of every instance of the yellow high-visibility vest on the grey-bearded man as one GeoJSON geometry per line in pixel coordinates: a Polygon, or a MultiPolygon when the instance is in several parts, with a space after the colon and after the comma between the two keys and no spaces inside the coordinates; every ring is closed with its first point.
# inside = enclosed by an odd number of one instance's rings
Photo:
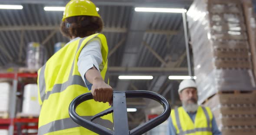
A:
{"type": "Polygon", "coordinates": [[[171,119],[177,135],[212,135],[213,114],[208,107],[198,107],[194,122],[183,107],[171,111],[171,119]]]}

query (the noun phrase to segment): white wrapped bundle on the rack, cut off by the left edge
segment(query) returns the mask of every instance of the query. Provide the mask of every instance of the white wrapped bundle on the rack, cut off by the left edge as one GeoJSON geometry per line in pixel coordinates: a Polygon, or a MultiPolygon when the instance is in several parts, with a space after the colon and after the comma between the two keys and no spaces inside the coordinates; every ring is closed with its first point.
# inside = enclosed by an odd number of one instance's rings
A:
{"type": "Polygon", "coordinates": [[[12,91],[11,89],[12,87],[9,83],[0,83],[0,111],[1,112],[9,111],[10,91],[12,91]]]}

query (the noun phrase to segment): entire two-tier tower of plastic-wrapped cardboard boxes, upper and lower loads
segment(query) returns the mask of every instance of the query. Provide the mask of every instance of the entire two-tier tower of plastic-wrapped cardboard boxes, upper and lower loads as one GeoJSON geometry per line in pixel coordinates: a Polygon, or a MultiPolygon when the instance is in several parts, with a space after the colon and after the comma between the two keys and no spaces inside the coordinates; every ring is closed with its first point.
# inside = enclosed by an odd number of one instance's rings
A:
{"type": "Polygon", "coordinates": [[[256,135],[256,51],[247,36],[242,1],[194,0],[187,18],[198,102],[208,100],[205,106],[212,109],[223,135],[256,135]]]}

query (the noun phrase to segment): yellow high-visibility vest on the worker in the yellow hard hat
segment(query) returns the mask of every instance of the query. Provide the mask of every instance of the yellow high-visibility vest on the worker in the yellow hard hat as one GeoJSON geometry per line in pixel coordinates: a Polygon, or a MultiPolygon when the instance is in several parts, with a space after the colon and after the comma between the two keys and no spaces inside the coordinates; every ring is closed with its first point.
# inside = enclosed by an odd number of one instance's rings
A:
{"type": "MultiPolygon", "coordinates": [[[[101,40],[103,59],[101,76],[104,80],[108,79],[105,77],[108,68],[108,45],[105,35],[94,34],[75,40],[56,52],[38,71],[38,99],[42,106],[38,135],[96,135],[75,124],[69,117],[71,101],[83,93],[90,92],[78,71],[77,62],[82,48],[94,38],[101,40]]],[[[90,119],[109,107],[108,103],[89,100],[77,106],[76,112],[90,119]]],[[[95,119],[95,123],[112,129],[112,114],[95,119]]]]}

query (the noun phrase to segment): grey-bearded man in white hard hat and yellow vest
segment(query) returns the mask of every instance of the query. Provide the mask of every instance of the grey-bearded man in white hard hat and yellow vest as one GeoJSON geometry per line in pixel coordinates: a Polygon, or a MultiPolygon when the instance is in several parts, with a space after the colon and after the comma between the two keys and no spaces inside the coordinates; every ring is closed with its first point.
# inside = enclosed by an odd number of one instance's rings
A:
{"type": "Polygon", "coordinates": [[[171,111],[167,135],[222,135],[210,108],[197,105],[194,80],[183,80],[178,93],[182,106],[171,111]]]}

